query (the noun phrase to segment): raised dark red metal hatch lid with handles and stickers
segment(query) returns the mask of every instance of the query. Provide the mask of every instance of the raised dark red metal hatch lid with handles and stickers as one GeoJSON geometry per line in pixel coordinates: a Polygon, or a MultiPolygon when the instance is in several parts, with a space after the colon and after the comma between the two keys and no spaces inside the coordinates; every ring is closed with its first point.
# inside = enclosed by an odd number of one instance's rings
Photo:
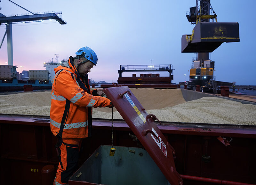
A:
{"type": "Polygon", "coordinates": [[[175,151],[154,122],[157,118],[148,115],[127,86],[105,88],[104,92],[166,179],[172,185],[182,185],[183,181],[173,159],[175,151]]]}

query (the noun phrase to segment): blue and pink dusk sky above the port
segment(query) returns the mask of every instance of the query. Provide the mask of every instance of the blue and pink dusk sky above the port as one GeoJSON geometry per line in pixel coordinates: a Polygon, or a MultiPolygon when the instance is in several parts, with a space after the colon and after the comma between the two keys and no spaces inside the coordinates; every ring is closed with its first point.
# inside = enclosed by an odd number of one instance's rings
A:
{"type": "MultiPolygon", "coordinates": [[[[191,34],[195,26],[188,22],[186,12],[196,6],[196,0],[12,1],[35,13],[62,11],[61,17],[68,23],[12,24],[13,65],[18,66],[18,72],[20,66],[23,70],[45,70],[43,63],[52,58],[55,61],[55,54],[60,62],[88,46],[99,59],[89,74],[95,81],[117,82],[119,65],[149,65],[150,60],[152,65],[172,64],[174,83],[189,78],[196,54],[181,53],[181,36],[191,34]]],[[[211,0],[218,22],[239,23],[240,42],[222,43],[210,53],[210,59],[215,61],[216,80],[256,85],[256,1],[245,2],[211,0]]],[[[2,0],[0,7],[4,15],[29,13],[8,0],[2,0]]],[[[0,41],[5,30],[1,25],[0,41]]],[[[6,40],[0,49],[0,65],[7,62],[6,40]]]]}

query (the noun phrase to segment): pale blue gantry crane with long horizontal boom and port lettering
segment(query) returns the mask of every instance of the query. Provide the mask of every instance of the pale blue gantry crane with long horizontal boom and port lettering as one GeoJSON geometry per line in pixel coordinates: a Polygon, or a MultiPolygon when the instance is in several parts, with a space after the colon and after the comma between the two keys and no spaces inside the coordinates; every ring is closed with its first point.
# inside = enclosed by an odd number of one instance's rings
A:
{"type": "MultiPolygon", "coordinates": [[[[34,12],[29,11],[29,10],[23,8],[22,6],[14,3],[11,0],[8,0],[8,1],[12,2],[13,4],[15,4],[29,12],[29,14],[14,15],[14,16],[5,16],[4,14],[0,13],[0,25],[1,24],[6,25],[6,32],[4,33],[4,37],[5,37],[5,35],[7,35],[8,65],[13,65],[13,55],[12,55],[12,24],[13,23],[39,22],[39,21],[50,20],[50,19],[57,20],[61,25],[67,24],[67,22],[65,22],[61,18],[61,14],[62,14],[61,11],[60,12],[52,11],[52,12],[44,12],[44,13],[34,13],[34,12]]],[[[1,2],[1,0],[0,0],[0,2],[1,2]]],[[[4,41],[4,37],[1,42],[0,48],[4,41]]]]}

